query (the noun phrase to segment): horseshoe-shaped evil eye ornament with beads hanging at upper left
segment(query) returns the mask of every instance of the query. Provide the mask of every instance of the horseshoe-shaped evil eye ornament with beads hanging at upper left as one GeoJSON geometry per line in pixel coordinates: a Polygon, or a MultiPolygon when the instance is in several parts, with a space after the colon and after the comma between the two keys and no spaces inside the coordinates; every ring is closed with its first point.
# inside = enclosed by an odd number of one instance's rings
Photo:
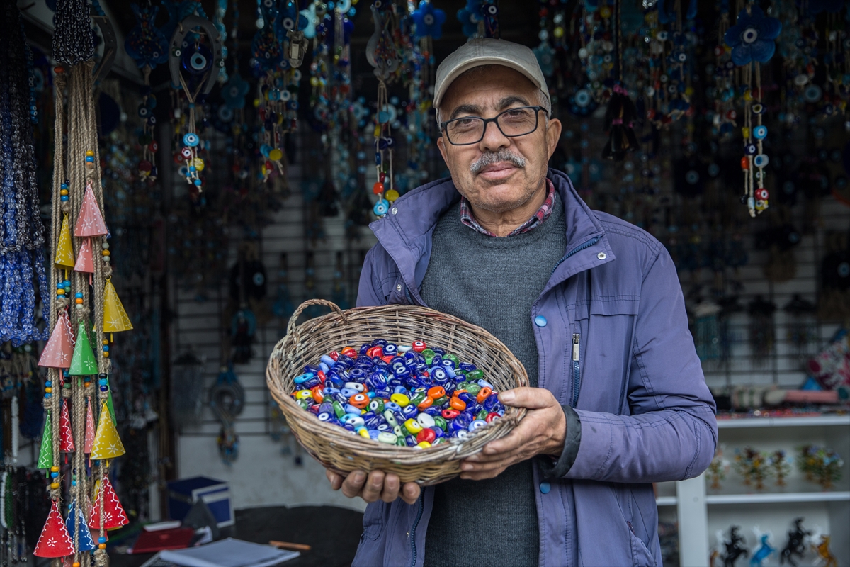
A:
{"type": "Polygon", "coordinates": [[[224,66],[222,37],[210,20],[190,14],[180,22],[171,39],[168,65],[173,85],[182,91],[189,106],[186,130],[180,138],[183,148],[175,156],[175,161],[183,162],[180,172],[193,186],[193,195],[197,196],[201,193],[200,173],[205,164],[198,156],[202,145],[195,130],[195,101],[199,95],[210,93],[218,77],[218,69],[224,66]],[[207,44],[201,43],[201,40],[207,44]]]}

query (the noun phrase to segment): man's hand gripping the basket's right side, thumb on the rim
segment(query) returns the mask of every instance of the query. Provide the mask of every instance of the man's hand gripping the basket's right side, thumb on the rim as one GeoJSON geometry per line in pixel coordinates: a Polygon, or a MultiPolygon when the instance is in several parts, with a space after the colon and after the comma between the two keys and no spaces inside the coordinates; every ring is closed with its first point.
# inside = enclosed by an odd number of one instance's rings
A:
{"type": "Polygon", "coordinates": [[[528,408],[519,425],[461,463],[462,479],[492,479],[514,463],[535,455],[559,456],[564,450],[564,410],[546,388],[514,388],[499,394],[504,405],[528,408]]]}

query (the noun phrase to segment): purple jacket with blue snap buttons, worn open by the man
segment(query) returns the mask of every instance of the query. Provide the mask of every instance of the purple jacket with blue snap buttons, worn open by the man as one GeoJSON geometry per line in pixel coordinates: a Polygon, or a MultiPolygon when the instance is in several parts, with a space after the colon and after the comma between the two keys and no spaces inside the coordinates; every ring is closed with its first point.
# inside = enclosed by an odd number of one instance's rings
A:
{"type": "MultiPolygon", "coordinates": [[[[702,473],[717,444],[682,288],[659,241],[592,211],[564,173],[549,170],[549,179],[564,204],[567,248],[529,317],[548,321],[534,326],[539,387],[575,408],[581,442],[564,477],[544,480],[534,467],[535,485],[551,488],[536,490],[540,564],[660,565],[651,483],[702,473]]],[[[441,179],[370,225],[378,244],[365,258],[358,305],[424,305],[434,225],[459,198],[441,179]]],[[[412,506],[369,504],[354,565],[422,565],[432,502],[428,487],[412,506]]]]}

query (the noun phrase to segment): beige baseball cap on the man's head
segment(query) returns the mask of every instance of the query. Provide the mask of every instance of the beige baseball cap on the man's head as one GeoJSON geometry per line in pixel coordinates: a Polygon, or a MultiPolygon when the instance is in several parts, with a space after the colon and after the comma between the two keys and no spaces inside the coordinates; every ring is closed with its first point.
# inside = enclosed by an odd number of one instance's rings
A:
{"type": "Polygon", "coordinates": [[[460,77],[464,71],[481,65],[504,65],[519,71],[541,90],[549,106],[552,106],[546,78],[543,77],[543,71],[534,52],[519,43],[485,37],[469,40],[439,64],[436,84],[433,88],[434,108],[439,107],[439,102],[452,81],[460,77]]]}

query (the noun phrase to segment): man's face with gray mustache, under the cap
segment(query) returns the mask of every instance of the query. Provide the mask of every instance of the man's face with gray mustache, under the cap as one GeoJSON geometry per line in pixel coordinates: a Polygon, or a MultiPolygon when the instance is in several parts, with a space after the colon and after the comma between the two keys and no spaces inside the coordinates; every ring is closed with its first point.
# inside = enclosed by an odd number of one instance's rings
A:
{"type": "MultiPolygon", "coordinates": [[[[537,105],[538,90],[526,77],[501,65],[488,65],[456,78],[439,108],[445,122],[462,116],[491,118],[511,108],[537,105]]],[[[506,213],[522,207],[541,190],[561,133],[558,120],[550,120],[547,128],[545,114],[538,113],[537,129],[524,136],[508,138],[491,122],[478,144],[452,145],[445,133],[437,140],[457,190],[473,207],[506,213]],[[500,152],[513,157],[494,161],[500,152]]]]}

